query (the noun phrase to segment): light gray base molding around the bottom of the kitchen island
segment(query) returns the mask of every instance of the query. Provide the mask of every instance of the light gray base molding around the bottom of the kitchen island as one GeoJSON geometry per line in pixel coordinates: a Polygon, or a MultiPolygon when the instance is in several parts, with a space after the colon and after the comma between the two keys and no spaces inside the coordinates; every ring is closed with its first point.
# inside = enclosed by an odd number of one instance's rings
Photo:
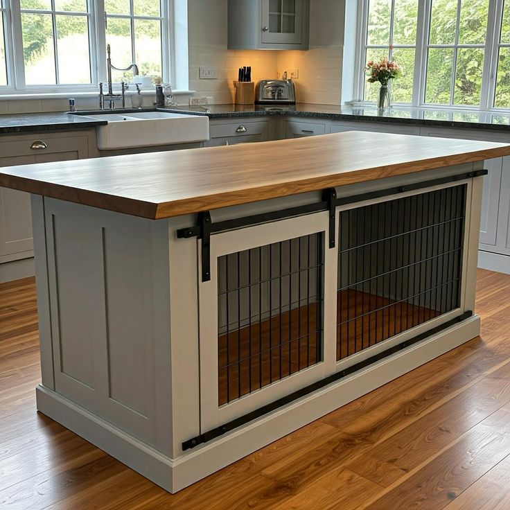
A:
{"type": "Polygon", "coordinates": [[[87,439],[166,491],[175,493],[455,349],[477,337],[479,333],[480,317],[472,315],[441,333],[262,416],[216,441],[198,446],[177,459],[161,455],[146,443],[42,385],[36,389],[37,410],[87,439]]]}

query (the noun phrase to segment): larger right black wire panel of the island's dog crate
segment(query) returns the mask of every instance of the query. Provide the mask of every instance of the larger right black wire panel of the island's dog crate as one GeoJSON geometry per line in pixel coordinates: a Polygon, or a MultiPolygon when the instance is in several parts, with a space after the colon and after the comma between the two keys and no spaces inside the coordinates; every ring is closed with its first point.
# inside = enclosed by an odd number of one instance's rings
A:
{"type": "Polygon", "coordinates": [[[459,307],[466,188],[340,212],[337,360],[459,307]]]}

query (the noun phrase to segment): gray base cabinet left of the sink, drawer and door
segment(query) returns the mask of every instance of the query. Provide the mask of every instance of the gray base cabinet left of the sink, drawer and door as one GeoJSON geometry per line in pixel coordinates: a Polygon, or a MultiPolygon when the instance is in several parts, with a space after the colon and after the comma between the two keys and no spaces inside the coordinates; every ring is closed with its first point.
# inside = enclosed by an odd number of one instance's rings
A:
{"type": "MultiPolygon", "coordinates": [[[[0,137],[0,166],[67,161],[89,156],[87,134],[38,133],[0,137]]],[[[33,256],[30,195],[0,188],[0,263],[33,256]]]]}

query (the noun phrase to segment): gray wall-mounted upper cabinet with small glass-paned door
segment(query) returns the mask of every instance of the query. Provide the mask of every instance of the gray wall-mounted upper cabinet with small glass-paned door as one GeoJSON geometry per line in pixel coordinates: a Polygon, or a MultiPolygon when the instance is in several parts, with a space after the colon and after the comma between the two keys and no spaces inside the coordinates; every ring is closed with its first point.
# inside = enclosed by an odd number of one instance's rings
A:
{"type": "Polygon", "coordinates": [[[307,50],[310,0],[229,0],[229,49],[307,50]]]}

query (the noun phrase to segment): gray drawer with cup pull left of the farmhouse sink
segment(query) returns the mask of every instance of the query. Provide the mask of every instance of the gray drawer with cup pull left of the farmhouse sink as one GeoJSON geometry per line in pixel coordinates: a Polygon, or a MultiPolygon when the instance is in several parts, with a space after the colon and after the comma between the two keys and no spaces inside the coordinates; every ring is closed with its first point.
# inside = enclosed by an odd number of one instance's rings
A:
{"type": "MultiPolygon", "coordinates": [[[[49,137],[41,133],[31,137],[16,137],[15,140],[10,137],[0,139],[0,155],[1,157],[23,157],[23,156],[42,156],[53,154],[55,152],[69,153],[75,152],[75,158],[87,157],[88,146],[87,137],[49,137]]],[[[43,158],[45,161],[53,160],[43,158]]],[[[22,164],[20,162],[19,164],[22,164]]]]}

